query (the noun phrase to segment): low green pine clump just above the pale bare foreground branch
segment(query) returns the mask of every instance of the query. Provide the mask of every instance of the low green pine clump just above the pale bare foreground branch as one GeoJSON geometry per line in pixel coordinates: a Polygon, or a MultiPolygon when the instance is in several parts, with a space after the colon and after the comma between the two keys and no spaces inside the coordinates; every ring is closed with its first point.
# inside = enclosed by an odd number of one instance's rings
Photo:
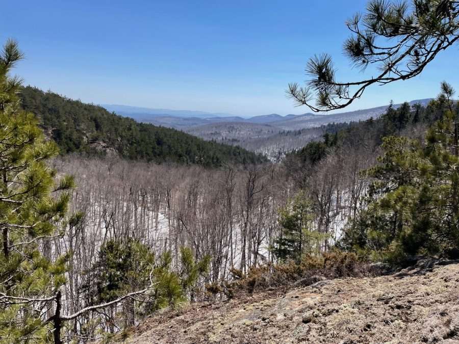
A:
{"type": "Polygon", "coordinates": [[[152,283],[147,306],[148,313],[167,306],[175,307],[192,296],[198,280],[209,272],[210,257],[196,261],[191,249],[180,250],[181,270],[172,268],[172,255],[163,253],[159,259],[151,250],[134,239],[109,240],[101,248],[93,270],[96,290],[95,303],[108,302],[123,294],[145,288],[152,283]]]}

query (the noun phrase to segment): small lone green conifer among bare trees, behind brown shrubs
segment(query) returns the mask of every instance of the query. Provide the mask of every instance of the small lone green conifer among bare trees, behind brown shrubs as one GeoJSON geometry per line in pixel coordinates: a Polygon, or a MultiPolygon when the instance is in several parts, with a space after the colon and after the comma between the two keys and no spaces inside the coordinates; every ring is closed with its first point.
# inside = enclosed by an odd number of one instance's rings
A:
{"type": "Polygon", "coordinates": [[[312,219],[311,201],[300,191],[279,211],[281,233],[273,248],[278,259],[298,262],[304,253],[318,253],[319,243],[326,236],[311,229],[312,219]]]}

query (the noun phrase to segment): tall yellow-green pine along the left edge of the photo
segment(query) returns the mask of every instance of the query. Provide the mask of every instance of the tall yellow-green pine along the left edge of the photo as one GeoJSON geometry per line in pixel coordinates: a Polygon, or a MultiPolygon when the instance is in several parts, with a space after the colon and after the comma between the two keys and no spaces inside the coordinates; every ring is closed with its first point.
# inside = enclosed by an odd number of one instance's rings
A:
{"type": "Polygon", "coordinates": [[[59,234],[56,224],[66,215],[73,180],[55,180],[45,161],[58,147],[44,140],[36,117],[20,109],[20,80],[9,72],[21,58],[16,42],[8,40],[0,52],[0,340],[44,342],[48,328],[41,312],[50,302],[11,297],[52,298],[65,283],[67,257],[53,261],[42,252],[46,240],[59,234]]]}

